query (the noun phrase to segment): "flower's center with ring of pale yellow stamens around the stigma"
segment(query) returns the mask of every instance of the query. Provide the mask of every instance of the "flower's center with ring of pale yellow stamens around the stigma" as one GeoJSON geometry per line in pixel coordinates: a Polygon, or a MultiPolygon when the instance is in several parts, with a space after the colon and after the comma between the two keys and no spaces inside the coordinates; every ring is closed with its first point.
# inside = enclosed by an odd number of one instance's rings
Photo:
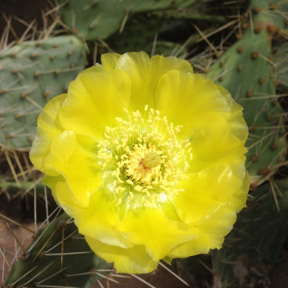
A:
{"type": "Polygon", "coordinates": [[[126,111],[126,118],[106,127],[98,159],[104,185],[119,204],[155,206],[179,192],[192,159],[190,141],[177,139],[180,129],[147,105],[143,116],[126,111]]]}

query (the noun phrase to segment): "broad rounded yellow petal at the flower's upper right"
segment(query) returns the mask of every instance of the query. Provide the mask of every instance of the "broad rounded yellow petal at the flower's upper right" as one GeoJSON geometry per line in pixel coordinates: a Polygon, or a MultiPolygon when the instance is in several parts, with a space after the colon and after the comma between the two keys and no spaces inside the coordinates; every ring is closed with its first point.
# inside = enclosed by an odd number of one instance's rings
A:
{"type": "MultiPolygon", "coordinates": [[[[161,77],[156,91],[156,109],[169,116],[174,125],[183,126],[183,138],[190,138],[193,130],[199,129],[201,123],[207,123],[213,114],[222,116],[227,121],[231,117],[231,110],[237,116],[242,114],[241,107],[225,89],[219,89],[203,75],[176,70],[161,77]]],[[[235,125],[245,127],[244,131],[241,130],[238,134],[244,134],[242,138],[246,138],[247,130],[243,118],[234,117],[234,120],[235,125]]]]}

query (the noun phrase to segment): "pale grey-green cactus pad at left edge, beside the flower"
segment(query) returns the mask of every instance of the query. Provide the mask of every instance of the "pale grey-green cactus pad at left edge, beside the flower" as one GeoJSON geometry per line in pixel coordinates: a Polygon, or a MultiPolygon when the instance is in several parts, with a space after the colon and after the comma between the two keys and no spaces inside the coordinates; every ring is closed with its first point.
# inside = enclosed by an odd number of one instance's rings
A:
{"type": "Polygon", "coordinates": [[[48,100],[65,93],[84,69],[84,45],[73,36],[17,44],[0,54],[0,145],[30,147],[48,100]]]}

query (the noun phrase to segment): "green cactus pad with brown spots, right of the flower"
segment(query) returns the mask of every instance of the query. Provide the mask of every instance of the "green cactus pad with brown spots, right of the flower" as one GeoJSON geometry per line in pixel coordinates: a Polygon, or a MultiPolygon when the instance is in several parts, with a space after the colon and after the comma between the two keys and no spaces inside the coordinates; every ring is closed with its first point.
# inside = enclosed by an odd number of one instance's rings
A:
{"type": "MultiPolygon", "coordinates": [[[[271,58],[272,39],[287,20],[283,17],[285,10],[282,14],[280,10],[271,10],[270,2],[251,1],[253,25],[219,57],[207,75],[226,87],[244,107],[244,118],[249,125],[247,168],[252,186],[278,170],[287,150],[285,116],[276,95],[275,65],[271,58]]],[[[279,1],[278,9],[282,2],[279,1]]]]}

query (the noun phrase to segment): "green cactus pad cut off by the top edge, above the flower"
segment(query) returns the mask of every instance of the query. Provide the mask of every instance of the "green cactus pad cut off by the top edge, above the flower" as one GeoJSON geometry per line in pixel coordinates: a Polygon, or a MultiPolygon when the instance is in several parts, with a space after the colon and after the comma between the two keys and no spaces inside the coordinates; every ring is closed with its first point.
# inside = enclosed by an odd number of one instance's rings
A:
{"type": "Polygon", "coordinates": [[[184,8],[199,0],[60,0],[60,13],[66,27],[87,40],[105,39],[121,30],[136,12],[184,8]]]}

